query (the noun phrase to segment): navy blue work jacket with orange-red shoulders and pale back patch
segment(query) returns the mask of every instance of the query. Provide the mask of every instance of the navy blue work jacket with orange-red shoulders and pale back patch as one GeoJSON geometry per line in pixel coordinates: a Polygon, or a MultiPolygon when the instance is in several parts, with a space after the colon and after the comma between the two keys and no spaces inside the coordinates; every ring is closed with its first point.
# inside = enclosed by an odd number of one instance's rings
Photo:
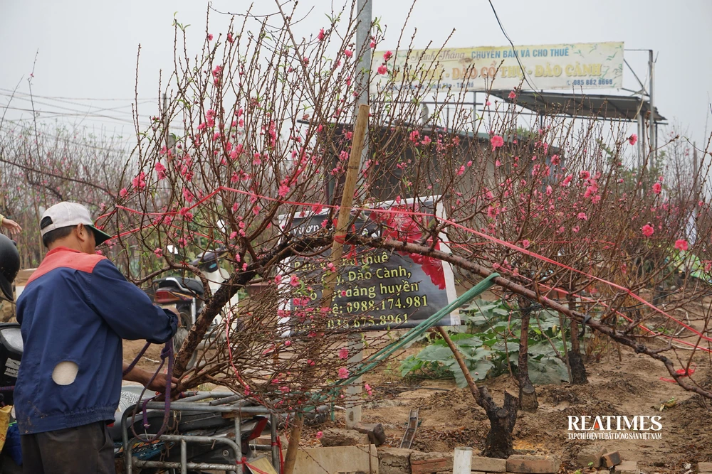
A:
{"type": "Polygon", "coordinates": [[[106,257],[47,253],[17,299],[24,345],[14,392],[20,434],[110,422],[119,403],[122,339],[164,343],[177,317],[152,304],[106,257]],[[61,362],[76,377],[58,384],[61,362]],[[56,377],[57,378],[57,377],[56,377]]]}

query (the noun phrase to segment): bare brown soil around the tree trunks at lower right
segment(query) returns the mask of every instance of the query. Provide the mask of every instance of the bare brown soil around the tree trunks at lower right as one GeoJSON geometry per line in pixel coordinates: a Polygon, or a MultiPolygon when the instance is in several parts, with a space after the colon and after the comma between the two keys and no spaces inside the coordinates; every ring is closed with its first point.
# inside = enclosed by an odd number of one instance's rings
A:
{"type": "MultiPolygon", "coordinates": [[[[555,454],[562,460],[562,472],[581,466],[576,455],[590,443],[619,451],[624,460],[637,460],[644,473],[684,473],[685,463],[712,461],[712,402],[704,402],[669,377],[664,367],[649,357],[622,350],[601,362],[589,362],[589,383],[537,387],[539,409],[520,412],[513,432],[514,447],[523,454],[555,454]],[[661,402],[675,398],[670,409],[659,411],[661,402]],[[659,415],[661,440],[582,441],[567,439],[568,415],[659,415]]],[[[709,360],[698,357],[696,381],[712,388],[709,360]]],[[[363,421],[382,423],[387,445],[399,446],[409,411],[419,409],[421,424],[413,448],[419,451],[451,451],[456,446],[483,448],[488,421],[468,389],[459,389],[444,380],[403,380],[392,369],[384,369],[366,382],[375,387],[374,400],[363,406],[363,421]]],[[[486,381],[498,404],[503,392],[517,394],[508,376],[486,381]]],[[[342,416],[328,426],[308,430],[305,441],[316,444],[315,433],[330,426],[343,426],[342,416]]]]}

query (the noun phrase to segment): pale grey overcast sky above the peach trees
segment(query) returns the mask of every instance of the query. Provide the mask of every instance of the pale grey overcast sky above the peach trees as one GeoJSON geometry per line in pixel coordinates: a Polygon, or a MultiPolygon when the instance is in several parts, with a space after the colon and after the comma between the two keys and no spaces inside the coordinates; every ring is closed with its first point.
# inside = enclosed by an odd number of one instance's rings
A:
{"type": "MultiPolygon", "coordinates": [[[[388,27],[383,48],[392,48],[411,3],[373,1],[374,16],[388,27]]],[[[307,36],[328,26],[324,13],[331,10],[332,3],[340,4],[339,0],[300,1],[304,14],[312,6],[314,9],[300,23],[298,32],[307,36]]],[[[255,14],[275,11],[273,1],[255,4],[255,14]]],[[[625,48],[653,49],[659,112],[689,130],[698,146],[706,142],[712,89],[712,1],[496,0],[494,4],[504,28],[518,45],[624,41],[625,48]]],[[[213,6],[223,11],[242,12],[249,5],[241,0],[213,1],[213,6]]],[[[130,134],[138,44],[142,46],[138,90],[140,100],[148,101],[142,105],[146,117],[156,109],[159,70],[172,68],[174,12],[182,23],[191,23],[188,32],[197,52],[204,40],[206,6],[201,0],[0,0],[0,114],[8,103],[8,90],[20,83],[19,92],[28,92],[27,79],[38,51],[32,92],[43,120],[54,117],[130,134]]],[[[211,33],[226,31],[228,21],[212,13],[211,33]]],[[[415,46],[421,48],[429,41],[443,43],[453,29],[451,47],[507,44],[486,0],[417,1],[406,37],[414,28],[415,46]]],[[[625,55],[645,80],[647,53],[625,55]]],[[[639,89],[627,69],[624,87],[639,89]]],[[[31,115],[18,110],[30,108],[24,96],[14,99],[10,107],[7,118],[31,115]]],[[[710,129],[712,124],[707,134],[710,129]]]]}

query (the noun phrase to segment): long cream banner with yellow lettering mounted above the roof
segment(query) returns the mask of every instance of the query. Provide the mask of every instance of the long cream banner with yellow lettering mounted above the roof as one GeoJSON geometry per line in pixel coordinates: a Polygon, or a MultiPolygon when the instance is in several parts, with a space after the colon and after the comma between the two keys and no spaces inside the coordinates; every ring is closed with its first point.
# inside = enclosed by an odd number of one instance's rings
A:
{"type": "MultiPolygon", "coordinates": [[[[385,54],[374,53],[374,63],[383,63],[385,54]]],[[[469,91],[623,87],[623,43],[406,50],[388,56],[388,72],[374,75],[372,92],[391,75],[397,89],[404,85],[469,91]]]]}

